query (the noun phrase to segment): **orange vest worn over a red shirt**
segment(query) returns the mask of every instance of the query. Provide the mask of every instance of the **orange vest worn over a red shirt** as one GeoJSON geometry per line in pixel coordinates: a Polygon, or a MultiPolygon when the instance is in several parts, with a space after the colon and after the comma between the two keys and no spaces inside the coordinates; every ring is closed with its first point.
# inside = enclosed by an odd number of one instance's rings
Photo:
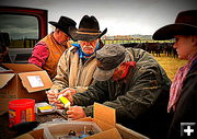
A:
{"type": "Polygon", "coordinates": [[[59,45],[53,37],[53,33],[44,37],[40,42],[46,43],[46,46],[49,50],[49,56],[42,68],[48,72],[50,79],[54,79],[57,74],[57,65],[59,58],[66,50],[66,46],[59,45]]]}

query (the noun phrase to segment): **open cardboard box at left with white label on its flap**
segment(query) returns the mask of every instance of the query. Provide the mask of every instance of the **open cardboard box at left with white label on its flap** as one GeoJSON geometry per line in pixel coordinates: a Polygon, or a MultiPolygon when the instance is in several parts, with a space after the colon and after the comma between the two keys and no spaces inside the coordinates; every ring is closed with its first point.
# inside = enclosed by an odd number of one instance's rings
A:
{"type": "Polygon", "coordinates": [[[3,63],[13,72],[0,73],[0,115],[8,112],[9,101],[34,99],[36,102],[47,100],[45,90],[53,82],[47,72],[32,63],[3,63]]]}

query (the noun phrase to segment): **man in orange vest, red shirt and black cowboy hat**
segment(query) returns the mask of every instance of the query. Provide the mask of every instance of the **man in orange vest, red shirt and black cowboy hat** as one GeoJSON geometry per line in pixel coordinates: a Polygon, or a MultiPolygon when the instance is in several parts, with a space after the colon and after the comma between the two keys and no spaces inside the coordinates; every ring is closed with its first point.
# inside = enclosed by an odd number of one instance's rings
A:
{"type": "Polygon", "coordinates": [[[49,22],[54,25],[55,32],[39,40],[32,53],[28,62],[35,63],[45,69],[50,79],[57,74],[57,63],[63,51],[69,47],[71,38],[69,27],[74,28],[76,22],[67,16],[60,16],[58,22],[49,22]]]}

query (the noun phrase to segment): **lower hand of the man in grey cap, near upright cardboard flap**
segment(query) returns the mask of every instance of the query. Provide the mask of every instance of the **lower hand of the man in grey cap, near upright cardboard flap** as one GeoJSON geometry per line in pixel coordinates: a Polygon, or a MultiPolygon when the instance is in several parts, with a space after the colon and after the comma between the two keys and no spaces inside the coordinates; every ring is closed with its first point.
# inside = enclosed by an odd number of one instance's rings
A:
{"type": "Polygon", "coordinates": [[[68,118],[72,120],[86,117],[85,112],[83,111],[81,106],[71,106],[67,111],[67,115],[68,115],[68,118]]]}

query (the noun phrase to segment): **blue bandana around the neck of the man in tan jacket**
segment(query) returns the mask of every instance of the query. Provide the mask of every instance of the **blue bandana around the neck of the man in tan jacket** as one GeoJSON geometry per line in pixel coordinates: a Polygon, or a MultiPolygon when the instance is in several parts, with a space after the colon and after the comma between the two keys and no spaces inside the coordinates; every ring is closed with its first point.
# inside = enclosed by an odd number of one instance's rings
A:
{"type": "Polygon", "coordinates": [[[80,58],[85,58],[85,57],[90,57],[92,56],[100,47],[100,43],[96,44],[96,48],[94,50],[94,53],[92,54],[85,54],[82,49],[81,49],[81,45],[80,44],[71,44],[72,46],[77,47],[78,48],[78,55],[80,58]]]}

